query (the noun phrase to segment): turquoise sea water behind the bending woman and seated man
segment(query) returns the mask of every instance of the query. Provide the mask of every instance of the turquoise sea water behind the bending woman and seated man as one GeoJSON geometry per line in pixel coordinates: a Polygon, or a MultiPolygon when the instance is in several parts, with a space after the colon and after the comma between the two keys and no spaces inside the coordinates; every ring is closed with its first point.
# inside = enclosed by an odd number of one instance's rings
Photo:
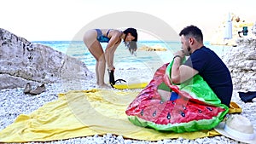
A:
{"type": "MultiPolygon", "coordinates": [[[[55,50],[61,51],[67,55],[71,55],[79,60],[82,60],[91,72],[95,70],[96,60],[90,55],[89,50],[85,47],[82,41],[36,41],[33,43],[41,43],[47,45],[55,50]]],[[[105,49],[107,43],[102,43],[102,48],[105,49]]],[[[125,48],[124,43],[120,43],[114,55],[114,66],[116,68],[143,68],[150,67],[156,69],[164,63],[170,62],[173,53],[181,49],[180,42],[160,42],[160,41],[139,41],[137,42],[138,48],[143,46],[166,48],[167,51],[144,51],[137,50],[137,55],[131,55],[129,50],[125,48]]],[[[222,57],[230,47],[205,45],[212,49],[217,55],[222,57]]]]}

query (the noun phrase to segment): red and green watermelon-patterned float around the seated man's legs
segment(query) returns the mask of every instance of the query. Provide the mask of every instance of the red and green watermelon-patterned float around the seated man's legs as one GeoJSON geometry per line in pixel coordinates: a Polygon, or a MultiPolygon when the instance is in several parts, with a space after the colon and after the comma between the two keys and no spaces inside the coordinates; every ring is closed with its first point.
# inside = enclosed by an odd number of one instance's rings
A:
{"type": "Polygon", "coordinates": [[[177,133],[217,126],[229,107],[221,104],[200,75],[183,84],[171,84],[168,78],[171,68],[172,63],[161,66],[131,102],[125,111],[131,123],[177,133]]]}

